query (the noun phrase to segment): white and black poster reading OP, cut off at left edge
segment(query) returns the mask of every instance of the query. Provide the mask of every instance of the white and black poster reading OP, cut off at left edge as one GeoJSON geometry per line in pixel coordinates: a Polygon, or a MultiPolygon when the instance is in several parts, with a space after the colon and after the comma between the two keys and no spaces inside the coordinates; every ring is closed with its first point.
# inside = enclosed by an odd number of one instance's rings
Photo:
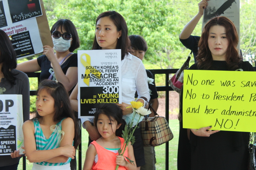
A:
{"type": "Polygon", "coordinates": [[[22,152],[22,95],[0,95],[0,106],[0,155],[22,152]]]}

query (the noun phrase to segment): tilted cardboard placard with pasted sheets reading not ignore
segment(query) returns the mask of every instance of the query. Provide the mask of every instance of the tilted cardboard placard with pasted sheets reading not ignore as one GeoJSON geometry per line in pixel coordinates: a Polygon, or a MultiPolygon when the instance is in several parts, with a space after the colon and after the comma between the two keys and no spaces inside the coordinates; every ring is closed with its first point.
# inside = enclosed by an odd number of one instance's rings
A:
{"type": "Polygon", "coordinates": [[[12,39],[17,58],[42,53],[43,45],[53,47],[42,0],[0,1],[0,29],[12,39]]]}

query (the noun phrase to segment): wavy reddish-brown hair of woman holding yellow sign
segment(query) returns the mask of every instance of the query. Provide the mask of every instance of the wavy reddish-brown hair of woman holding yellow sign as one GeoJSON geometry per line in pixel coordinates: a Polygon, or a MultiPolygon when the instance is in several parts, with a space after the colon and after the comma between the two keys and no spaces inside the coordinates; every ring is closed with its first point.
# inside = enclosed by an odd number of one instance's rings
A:
{"type": "Polygon", "coordinates": [[[238,44],[238,34],[236,26],[225,16],[217,16],[209,20],[202,31],[198,42],[198,55],[196,57],[199,69],[209,69],[212,66],[213,58],[208,47],[209,30],[212,26],[223,26],[226,29],[226,38],[228,39],[228,49],[226,51],[226,63],[229,70],[235,70],[241,62],[241,55],[236,48],[238,44]]]}

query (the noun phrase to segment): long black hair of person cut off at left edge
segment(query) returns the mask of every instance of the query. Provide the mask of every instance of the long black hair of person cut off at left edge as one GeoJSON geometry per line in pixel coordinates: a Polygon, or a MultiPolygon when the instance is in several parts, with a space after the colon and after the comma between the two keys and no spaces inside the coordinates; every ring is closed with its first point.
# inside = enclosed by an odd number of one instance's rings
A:
{"type": "Polygon", "coordinates": [[[10,82],[11,85],[16,84],[15,74],[10,71],[10,69],[17,67],[16,53],[11,44],[11,40],[2,29],[0,29],[0,64],[2,64],[2,73],[6,80],[10,82]]]}

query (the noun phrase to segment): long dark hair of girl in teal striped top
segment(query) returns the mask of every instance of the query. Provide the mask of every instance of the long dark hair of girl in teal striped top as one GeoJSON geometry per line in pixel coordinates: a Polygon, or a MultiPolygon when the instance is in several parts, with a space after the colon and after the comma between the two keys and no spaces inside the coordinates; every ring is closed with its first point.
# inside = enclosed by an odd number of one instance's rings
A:
{"type": "MultiPolygon", "coordinates": [[[[69,94],[65,87],[60,82],[56,83],[53,80],[43,80],[36,91],[38,94],[39,91],[46,90],[49,95],[54,99],[54,122],[59,122],[64,118],[70,117],[73,119],[75,124],[75,136],[74,136],[74,147],[77,149],[78,145],[81,143],[80,137],[80,127],[77,122],[77,119],[74,115],[74,111],[71,108],[69,94]]],[[[39,120],[42,116],[40,116],[37,112],[35,113],[35,117],[32,120],[39,120]]]]}

